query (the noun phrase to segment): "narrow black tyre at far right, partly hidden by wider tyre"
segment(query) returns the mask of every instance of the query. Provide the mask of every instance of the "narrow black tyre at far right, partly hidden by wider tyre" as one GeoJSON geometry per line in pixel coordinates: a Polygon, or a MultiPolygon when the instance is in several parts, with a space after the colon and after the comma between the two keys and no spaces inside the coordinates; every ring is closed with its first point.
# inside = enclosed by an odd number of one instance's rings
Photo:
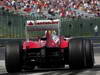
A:
{"type": "Polygon", "coordinates": [[[86,55],[86,68],[94,66],[94,51],[91,40],[84,40],[85,55],[86,55]]]}

